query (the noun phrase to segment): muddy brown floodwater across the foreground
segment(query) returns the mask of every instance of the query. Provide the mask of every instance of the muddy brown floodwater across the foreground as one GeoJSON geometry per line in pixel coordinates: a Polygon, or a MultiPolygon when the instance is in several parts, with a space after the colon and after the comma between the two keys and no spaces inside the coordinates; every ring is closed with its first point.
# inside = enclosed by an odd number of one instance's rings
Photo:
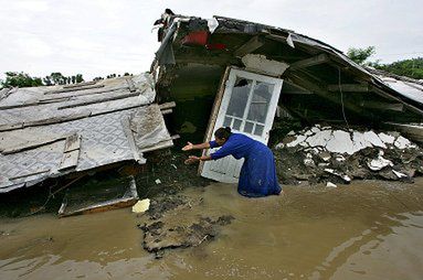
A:
{"type": "MultiPolygon", "coordinates": [[[[212,240],[142,249],[129,209],[0,220],[0,279],[423,279],[423,180],[285,186],[245,198],[234,185],[183,192],[191,215],[232,215],[212,240]]],[[[178,211],[173,222],[183,219],[178,211]]]]}

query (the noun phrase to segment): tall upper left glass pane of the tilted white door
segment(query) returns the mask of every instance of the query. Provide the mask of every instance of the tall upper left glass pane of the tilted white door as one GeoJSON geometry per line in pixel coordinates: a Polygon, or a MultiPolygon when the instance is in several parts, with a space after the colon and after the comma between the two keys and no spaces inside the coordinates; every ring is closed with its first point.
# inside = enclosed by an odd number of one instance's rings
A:
{"type": "Polygon", "coordinates": [[[231,100],[229,101],[226,115],[242,118],[248,100],[250,89],[253,82],[246,78],[236,77],[232,88],[231,100]]]}

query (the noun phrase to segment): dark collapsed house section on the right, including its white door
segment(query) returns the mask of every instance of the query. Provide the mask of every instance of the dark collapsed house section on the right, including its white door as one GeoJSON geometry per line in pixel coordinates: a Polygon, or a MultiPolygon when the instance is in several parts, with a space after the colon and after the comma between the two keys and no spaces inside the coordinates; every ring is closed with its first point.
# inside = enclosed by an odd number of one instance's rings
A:
{"type": "MultiPolygon", "coordinates": [[[[324,42],[248,21],[169,15],[162,33],[151,71],[158,98],[178,105],[172,122],[181,137],[208,141],[228,126],[267,143],[276,114],[423,141],[422,82],[389,77],[324,42]]],[[[199,173],[236,182],[241,165],[228,157],[200,164],[199,173]]]]}

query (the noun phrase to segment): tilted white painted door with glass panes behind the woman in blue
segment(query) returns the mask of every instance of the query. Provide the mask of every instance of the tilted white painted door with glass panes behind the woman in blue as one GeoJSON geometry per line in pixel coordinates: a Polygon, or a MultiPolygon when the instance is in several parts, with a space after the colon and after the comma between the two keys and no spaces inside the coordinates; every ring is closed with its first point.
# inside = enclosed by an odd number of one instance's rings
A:
{"type": "MultiPolygon", "coordinates": [[[[231,127],[265,144],[273,125],[283,80],[240,69],[231,69],[213,128],[231,127]]],[[[210,149],[209,153],[219,150],[210,149]]],[[[243,159],[226,157],[204,162],[201,175],[219,182],[236,183],[243,159]]]]}

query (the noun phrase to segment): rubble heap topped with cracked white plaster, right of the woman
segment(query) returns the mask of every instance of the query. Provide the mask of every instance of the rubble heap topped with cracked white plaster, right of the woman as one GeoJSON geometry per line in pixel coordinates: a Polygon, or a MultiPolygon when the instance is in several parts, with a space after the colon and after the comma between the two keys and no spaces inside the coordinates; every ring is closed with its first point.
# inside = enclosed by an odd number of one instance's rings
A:
{"type": "Polygon", "coordinates": [[[290,131],[274,148],[279,179],[348,184],[353,179],[411,181],[423,174],[423,149],[399,132],[315,125],[290,131]]]}

